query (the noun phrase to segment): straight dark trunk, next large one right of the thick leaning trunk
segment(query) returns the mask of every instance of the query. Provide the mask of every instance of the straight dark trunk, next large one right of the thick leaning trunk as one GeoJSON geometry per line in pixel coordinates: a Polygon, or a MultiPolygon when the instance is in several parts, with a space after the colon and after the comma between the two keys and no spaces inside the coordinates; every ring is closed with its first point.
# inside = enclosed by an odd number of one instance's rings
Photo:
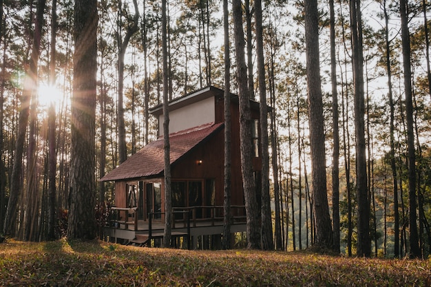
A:
{"type": "Polygon", "coordinates": [[[364,56],[362,52],[362,23],[360,0],[350,0],[350,29],[352,32],[353,82],[355,89],[355,134],[357,175],[357,255],[370,257],[370,202],[368,202],[365,100],[364,100],[364,56]]]}

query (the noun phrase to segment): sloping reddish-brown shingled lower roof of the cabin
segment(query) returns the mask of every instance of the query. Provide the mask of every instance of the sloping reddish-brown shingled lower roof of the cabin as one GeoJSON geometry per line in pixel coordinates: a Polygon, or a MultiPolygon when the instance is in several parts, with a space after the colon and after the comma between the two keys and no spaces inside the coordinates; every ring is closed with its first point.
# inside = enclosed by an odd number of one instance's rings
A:
{"type": "MultiPolygon", "coordinates": [[[[211,136],[223,124],[207,124],[193,127],[184,131],[178,131],[169,135],[171,164],[184,156],[188,151],[196,147],[202,140],[211,136]]],[[[156,176],[165,169],[165,151],[163,149],[163,138],[140,149],[116,169],[107,173],[101,181],[127,180],[133,178],[144,178],[156,176]]]]}

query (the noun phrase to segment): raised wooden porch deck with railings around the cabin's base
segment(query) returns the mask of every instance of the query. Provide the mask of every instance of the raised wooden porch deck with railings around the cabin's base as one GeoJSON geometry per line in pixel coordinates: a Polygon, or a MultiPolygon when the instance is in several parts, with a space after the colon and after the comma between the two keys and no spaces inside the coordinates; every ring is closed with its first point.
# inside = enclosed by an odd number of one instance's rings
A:
{"type": "MultiPolygon", "coordinates": [[[[231,233],[246,231],[245,206],[231,206],[231,215],[231,233]]],[[[198,240],[211,236],[213,246],[217,248],[220,245],[218,241],[221,242],[223,228],[223,206],[191,206],[173,209],[171,237],[175,245],[186,242],[187,248],[194,249],[198,246],[198,240]]],[[[148,213],[147,220],[139,220],[136,207],[112,207],[104,232],[111,242],[150,247],[158,245],[157,240],[162,239],[164,229],[164,213],[148,213]]]]}

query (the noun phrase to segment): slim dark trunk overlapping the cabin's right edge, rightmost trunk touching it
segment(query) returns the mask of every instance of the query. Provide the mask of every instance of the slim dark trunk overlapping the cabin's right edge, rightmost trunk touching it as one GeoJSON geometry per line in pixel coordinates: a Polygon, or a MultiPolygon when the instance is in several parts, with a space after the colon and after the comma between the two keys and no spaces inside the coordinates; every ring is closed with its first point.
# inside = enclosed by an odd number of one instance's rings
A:
{"type": "Polygon", "coordinates": [[[262,248],[274,249],[273,223],[271,218],[271,198],[269,196],[269,139],[268,139],[268,106],[266,104],[266,78],[264,65],[264,43],[262,28],[262,2],[255,0],[255,28],[257,75],[260,97],[260,151],[262,156],[262,248]]]}

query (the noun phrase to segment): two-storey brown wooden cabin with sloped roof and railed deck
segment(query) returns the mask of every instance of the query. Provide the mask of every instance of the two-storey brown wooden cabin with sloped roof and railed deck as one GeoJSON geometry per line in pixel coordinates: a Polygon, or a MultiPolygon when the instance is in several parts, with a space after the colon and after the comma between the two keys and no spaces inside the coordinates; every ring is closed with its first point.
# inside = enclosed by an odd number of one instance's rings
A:
{"type": "MultiPolygon", "coordinates": [[[[259,104],[251,101],[253,171],[260,189],[259,104]]],[[[115,205],[105,235],[116,242],[151,244],[164,227],[162,105],[150,110],[159,138],[130,156],[101,181],[115,182],[115,205]]],[[[238,96],[231,94],[231,214],[233,233],[246,230],[240,164],[238,96]]],[[[169,103],[173,237],[188,248],[218,248],[223,231],[224,92],[206,87],[169,103]],[[191,240],[191,241],[190,241],[191,240]],[[180,240],[178,240],[180,242],[180,240]],[[185,242],[183,240],[182,242],[185,242]],[[208,243],[209,242],[209,243],[208,243]]],[[[260,198],[260,192],[258,197],[260,198]]]]}

